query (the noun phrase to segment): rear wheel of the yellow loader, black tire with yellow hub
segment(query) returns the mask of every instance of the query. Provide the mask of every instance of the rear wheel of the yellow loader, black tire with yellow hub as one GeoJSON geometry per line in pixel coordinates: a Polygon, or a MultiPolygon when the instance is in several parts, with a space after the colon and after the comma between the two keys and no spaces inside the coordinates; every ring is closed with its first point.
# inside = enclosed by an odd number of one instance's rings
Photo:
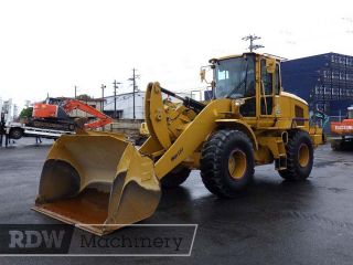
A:
{"type": "Polygon", "coordinates": [[[278,170],[280,177],[286,180],[306,180],[313,165],[312,141],[307,131],[297,130],[290,135],[287,151],[287,169],[278,170]]]}

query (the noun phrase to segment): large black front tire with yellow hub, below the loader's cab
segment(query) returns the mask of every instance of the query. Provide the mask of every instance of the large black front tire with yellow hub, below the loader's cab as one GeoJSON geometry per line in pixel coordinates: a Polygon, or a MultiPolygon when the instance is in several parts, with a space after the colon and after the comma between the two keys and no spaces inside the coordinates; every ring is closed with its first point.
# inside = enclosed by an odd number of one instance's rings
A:
{"type": "Polygon", "coordinates": [[[234,198],[253,182],[254,149],[239,130],[218,130],[205,142],[201,156],[201,177],[208,191],[234,198]]]}

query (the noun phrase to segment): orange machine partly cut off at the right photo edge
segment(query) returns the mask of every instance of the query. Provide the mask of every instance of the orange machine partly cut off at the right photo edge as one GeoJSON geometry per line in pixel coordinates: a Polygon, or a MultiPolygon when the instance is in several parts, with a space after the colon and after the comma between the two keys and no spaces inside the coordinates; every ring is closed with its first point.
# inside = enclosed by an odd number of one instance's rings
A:
{"type": "Polygon", "coordinates": [[[331,123],[331,147],[333,150],[353,150],[353,106],[347,108],[347,117],[331,123]]]}

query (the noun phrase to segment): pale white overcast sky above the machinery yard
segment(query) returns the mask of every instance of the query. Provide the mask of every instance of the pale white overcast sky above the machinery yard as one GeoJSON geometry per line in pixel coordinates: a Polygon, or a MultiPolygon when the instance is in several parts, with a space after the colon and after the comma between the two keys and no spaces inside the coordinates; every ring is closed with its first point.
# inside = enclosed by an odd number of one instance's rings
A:
{"type": "Polygon", "coordinates": [[[204,86],[208,59],[246,51],[255,33],[260,52],[296,59],[353,55],[352,1],[0,0],[0,97],[23,105],[50,96],[113,94],[132,67],[139,87],[150,81],[173,91],[204,86]]]}

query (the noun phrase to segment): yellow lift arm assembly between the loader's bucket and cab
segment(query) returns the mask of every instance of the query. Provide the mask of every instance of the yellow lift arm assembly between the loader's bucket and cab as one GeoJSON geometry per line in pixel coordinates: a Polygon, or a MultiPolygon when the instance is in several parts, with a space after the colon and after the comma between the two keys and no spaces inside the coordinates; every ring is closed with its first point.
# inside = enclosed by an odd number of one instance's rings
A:
{"type": "MultiPolygon", "coordinates": [[[[154,173],[158,179],[162,179],[168,172],[190,157],[207,138],[211,131],[214,131],[217,124],[216,119],[224,118],[225,114],[231,112],[232,100],[222,98],[204,105],[191,98],[183,98],[173,93],[161,88],[158,82],[150,83],[146,93],[146,123],[151,132],[150,138],[140,148],[140,152],[153,156],[159,153],[160,158],[154,165],[154,173]],[[163,103],[161,93],[174,96],[184,104],[192,104],[199,114],[188,124],[188,127],[176,138],[174,142],[168,134],[170,121],[164,112],[161,112],[163,103]],[[186,103],[184,102],[186,100],[186,103]],[[195,134],[197,131],[197,134],[195,134]],[[158,144],[158,145],[156,145],[158,144]],[[159,146],[161,150],[152,150],[150,147],[159,146]]],[[[190,105],[189,105],[190,106],[190,105]]]]}

